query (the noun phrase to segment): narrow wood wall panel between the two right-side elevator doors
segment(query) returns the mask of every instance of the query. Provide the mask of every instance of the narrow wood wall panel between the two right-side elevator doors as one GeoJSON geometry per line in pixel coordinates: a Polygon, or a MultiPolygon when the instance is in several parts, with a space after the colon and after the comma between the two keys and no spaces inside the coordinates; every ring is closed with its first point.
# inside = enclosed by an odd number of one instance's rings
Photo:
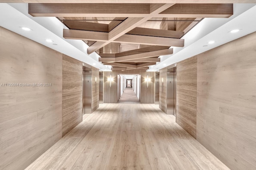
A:
{"type": "Polygon", "coordinates": [[[167,101],[166,101],[166,79],[167,79],[167,67],[160,69],[159,76],[159,108],[167,113],[167,101]],[[162,79],[164,82],[162,82],[162,79]]]}

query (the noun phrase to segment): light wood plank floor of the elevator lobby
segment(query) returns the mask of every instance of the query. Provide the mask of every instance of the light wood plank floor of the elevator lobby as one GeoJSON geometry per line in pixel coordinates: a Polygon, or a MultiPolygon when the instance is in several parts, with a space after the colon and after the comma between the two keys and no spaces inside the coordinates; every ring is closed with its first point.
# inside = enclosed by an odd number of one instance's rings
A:
{"type": "Polygon", "coordinates": [[[101,104],[27,170],[228,170],[154,104],[101,104]]]}

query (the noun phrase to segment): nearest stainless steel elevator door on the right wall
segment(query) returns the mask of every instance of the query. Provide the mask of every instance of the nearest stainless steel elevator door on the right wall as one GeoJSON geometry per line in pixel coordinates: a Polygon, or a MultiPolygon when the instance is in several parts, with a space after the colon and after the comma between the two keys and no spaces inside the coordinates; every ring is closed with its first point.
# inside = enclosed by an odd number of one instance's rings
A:
{"type": "Polygon", "coordinates": [[[176,67],[167,70],[167,114],[176,116],[176,67]]]}

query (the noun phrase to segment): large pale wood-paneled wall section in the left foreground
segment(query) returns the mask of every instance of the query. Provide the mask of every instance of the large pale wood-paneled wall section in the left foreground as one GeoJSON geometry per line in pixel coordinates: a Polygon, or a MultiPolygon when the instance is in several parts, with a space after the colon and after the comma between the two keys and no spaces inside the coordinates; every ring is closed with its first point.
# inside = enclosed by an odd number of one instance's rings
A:
{"type": "Polygon", "coordinates": [[[0,27],[0,169],[25,169],[61,137],[62,54],[0,27]]]}

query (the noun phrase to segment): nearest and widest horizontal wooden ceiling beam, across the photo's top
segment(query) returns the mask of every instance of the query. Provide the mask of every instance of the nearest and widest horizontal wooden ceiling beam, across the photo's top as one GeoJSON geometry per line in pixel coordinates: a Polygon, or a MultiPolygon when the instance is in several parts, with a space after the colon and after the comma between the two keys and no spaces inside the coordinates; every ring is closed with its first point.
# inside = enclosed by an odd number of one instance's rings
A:
{"type": "Polygon", "coordinates": [[[28,4],[28,13],[37,17],[130,18],[147,18],[148,16],[151,16],[151,18],[228,18],[233,15],[233,4],[226,4],[228,2],[225,2],[225,4],[206,4],[206,2],[204,4],[177,3],[178,4],[175,4],[174,6],[168,6],[168,8],[165,8],[167,4],[34,3],[28,4]]]}

